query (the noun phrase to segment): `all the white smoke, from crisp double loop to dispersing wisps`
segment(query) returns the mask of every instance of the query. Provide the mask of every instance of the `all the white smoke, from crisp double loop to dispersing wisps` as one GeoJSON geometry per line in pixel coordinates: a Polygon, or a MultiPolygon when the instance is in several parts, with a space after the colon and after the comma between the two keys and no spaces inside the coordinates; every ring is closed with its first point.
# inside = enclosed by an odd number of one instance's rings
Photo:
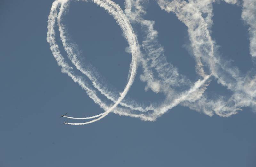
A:
{"type": "MultiPolygon", "coordinates": [[[[110,85],[107,86],[105,85],[106,83],[102,82],[100,79],[102,76],[95,72],[91,64],[82,60],[78,46],[68,37],[62,17],[67,14],[70,1],[55,0],[53,2],[47,27],[47,42],[50,44],[52,54],[58,65],[61,66],[61,71],[68,74],[74,82],[77,82],[86,91],[96,104],[105,110],[105,112],[92,117],[74,118],[65,116],[78,120],[92,119],[84,123],[66,124],[84,125],[93,123],[102,119],[110,112],[137,117],[144,121],[154,121],[178,104],[198,112],[203,112],[209,116],[217,114],[222,117],[228,117],[236,114],[242,107],[251,107],[253,111],[256,111],[255,72],[251,70],[246,74],[242,74],[237,67],[233,67],[229,61],[224,60],[218,54],[218,46],[211,38],[210,29],[213,25],[212,3],[215,0],[189,0],[189,2],[184,0],[156,1],[161,9],[175,13],[177,18],[187,26],[190,40],[188,48],[195,58],[196,72],[200,79],[195,83],[191,82],[186,76],[180,75],[176,67],[167,62],[164,49],[157,40],[157,31],[153,28],[154,21],[143,18],[146,14],[145,4],[148,3],[148,0],[126,0],[125,12],[111,0],[92,0],[92,2],[104,8],[114,17],[129,44],[132,61],[128,82],[121,93],[115,91],[115,89],[110,89],[110,85]],[[137,40],[131,23],[141,25],[143,30],[141,45],[137,40]],[[102,101],[97,96],[95,89],[86,82],[85,78],[76,75],[73,67],[65,61],[56,43],[55,24],[58,25],[60,39],[68,58],[79,71],[92,81],[96,90],[112,101],[112,105],[102,101]],[[155,93],[163,93],[165,100],[162,103],[148,102],[146,104],[125,98],[134,81],[139,65],[143,68],[140,80],[146,82],[145,91],[151,89],[155,93]],[[212,79],[216,79],[218,83],[232,91],[233,94],[230,97],[218,96],[216,99],[207,97],[205,90],[212,79]]],[[[242,7],[242,19],[249,25],[250,54],[254,61],[256,58],[256,1],[223,1],[242,7]]]]}

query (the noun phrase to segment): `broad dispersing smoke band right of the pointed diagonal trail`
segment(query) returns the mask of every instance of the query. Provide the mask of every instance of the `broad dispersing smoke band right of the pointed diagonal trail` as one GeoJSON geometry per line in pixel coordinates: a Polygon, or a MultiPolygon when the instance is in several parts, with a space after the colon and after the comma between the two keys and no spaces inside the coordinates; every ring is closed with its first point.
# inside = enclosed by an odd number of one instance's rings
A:
{"type": "MultiPolygon", "coordinates": [[[[242,107],[247,106],[255,110],[255,96],[249,93],[250,91],[255,92],[255,74],[248,72],[245,76],[242,75],[238,68],[232,67],[228,61],[222,59],[217,54],[216,44],[212,40],[208,30],[208,28],[211,27],[209,24],[212,25],[213,21],[209,17],[203,18],[200,11],[203,10],[204,13],[212,13],[212,7],[209,5],[211,1],[206,2],[208,8],[202,9],[197,8],[197,4],[201,3],[201,1],[191,0],[189,3],[178,0],[171,2],[163,0],[158,1],[162,9],[167,12],[174,12],[178,19],[188,27],[191,46],[196,59],[200,58],[204,66],[207,67],[210,73],[217,79],[218,83],[233,92],[228,100],[225,100],[225,97],[219,97],[218,100],[211,100],[203,95],[196,103],[191,105],[186,102],[185,104],[198,111],[214,111],[220,116],[236,114],[242,107]],[[209,24],[207,24],[207,22],[209,24]],[[248,80],[250,80],[251,83],[250,88],[246,86],[248,80]]],[[[236,1],[228,2],[236,3],[236,1]]],[[[252,38],[253,36],[250,37],[252,38]]]]}

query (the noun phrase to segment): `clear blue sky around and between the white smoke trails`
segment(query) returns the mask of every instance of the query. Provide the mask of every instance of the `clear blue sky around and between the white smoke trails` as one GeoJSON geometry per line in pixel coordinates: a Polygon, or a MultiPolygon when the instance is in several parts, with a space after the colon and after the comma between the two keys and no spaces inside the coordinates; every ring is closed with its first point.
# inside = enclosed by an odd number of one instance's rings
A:
{"type": "MultiPolygon", "coordinates": [[[[88,125],[60,125],[67,120],[59,119],[66,112],[86,117],[103,110],[61,73],[52,55],[46,41],[52,2],[0,2],[0,167],[256,166],[256,114],[249,107],[230,117],[210,117],[178,105],[154,122],[110,113],[88,125]]],[[[122,0],[114,2],[124,10],[122,0]]],[[[155,21],[167,61],[195,82],[195,60],[185,49],[187,27],[155,1],[147,12],[145,18],[155,21]]],[[[213,4],[213,12],[211,35],[220,54],[242,73],[255,68],[241,8],[220,2],[213,4]]],[[[131,55],[125,52],[127,41],[113,17],[92,2],[71,2],[65,23],[86,60],[107,84],[122,91],[131,55]]],[[[140,27],[133,28],[141,42],[140,27]]],[[[58,34],[56,38],[61,46],[58,34]]],[[[139,67],[128,96],[161,102],[163,95],[144,91],[141,71],[139,67]]],[[[207,91],[229,93],[214,79],[207,91]]]]}

